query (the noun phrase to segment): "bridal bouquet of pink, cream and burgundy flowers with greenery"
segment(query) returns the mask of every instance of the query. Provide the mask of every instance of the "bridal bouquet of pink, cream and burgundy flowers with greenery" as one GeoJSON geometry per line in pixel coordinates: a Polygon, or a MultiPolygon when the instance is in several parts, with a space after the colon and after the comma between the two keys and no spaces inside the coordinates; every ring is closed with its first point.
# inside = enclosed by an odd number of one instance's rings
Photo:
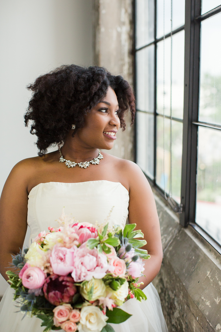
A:
{"type": "Polygon", "coordinates": [[[117,306],[136,297],[146,299],[138,278],[148,259],[136,224],[109,226],[59,218],[60,228],[48,227],[24,253],[13,256],[20,272],[7,271],[20,310],[36,316],[44,332],[113,332],[108,323],[131,315],[117,306]]]}

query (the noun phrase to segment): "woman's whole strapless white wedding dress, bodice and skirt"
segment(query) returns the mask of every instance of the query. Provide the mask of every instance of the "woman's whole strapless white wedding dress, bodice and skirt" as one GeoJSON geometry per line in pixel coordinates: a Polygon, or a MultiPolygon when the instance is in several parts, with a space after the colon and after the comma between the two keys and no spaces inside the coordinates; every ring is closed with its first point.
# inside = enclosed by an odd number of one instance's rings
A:
{"type": "MultiPolygon", "coordinates": [[[[118,182],[106,180],[80,183],[48,182],[34,187],[28,196],[27,222],[31,239],[48,226],[57,227],[64,207],[65,214],[81,222],[105,222],[112,209],[109,222],[124,227],[128,216],[129,194],[118,182]]],[[[147,300],[135,298],[122,305],[132,316],[121,324],[111,324],[116,332],[168,332],[158,293],[152,284],[144,292],[147,300]]],[[[1,332],[42,332],[41,320],[25,317],[13,302],[13,289],[8,288],[0,302],[1,332]]],[[[63,331],[63,330],[62,330],[63,331]]]]}

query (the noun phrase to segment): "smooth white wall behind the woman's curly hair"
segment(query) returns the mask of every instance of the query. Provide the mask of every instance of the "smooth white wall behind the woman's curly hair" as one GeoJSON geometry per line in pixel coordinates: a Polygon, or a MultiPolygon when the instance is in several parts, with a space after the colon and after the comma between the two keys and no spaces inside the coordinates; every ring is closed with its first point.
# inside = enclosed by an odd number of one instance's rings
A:
{"type": "MultiPolygon", "coordinates": [[[[92,32],[92,0],[0,0],[0,191],[18,161],[37,155],[26,86],[61,64],[91,65],[92,32]]],[[[6,287],[0,276],[0,295],[6,287]]]]}

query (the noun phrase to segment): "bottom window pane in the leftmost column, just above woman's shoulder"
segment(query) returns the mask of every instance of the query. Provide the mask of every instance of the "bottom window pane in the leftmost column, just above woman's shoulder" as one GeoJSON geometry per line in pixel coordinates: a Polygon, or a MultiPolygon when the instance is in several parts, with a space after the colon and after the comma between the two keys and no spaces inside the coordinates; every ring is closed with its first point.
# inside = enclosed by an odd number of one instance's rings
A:
{"type": "Polygon", "coordinates": [[[136,125],[137,164],[151,179],[153,179],[153,115],[144,112],[137,112],[136,125]]]}

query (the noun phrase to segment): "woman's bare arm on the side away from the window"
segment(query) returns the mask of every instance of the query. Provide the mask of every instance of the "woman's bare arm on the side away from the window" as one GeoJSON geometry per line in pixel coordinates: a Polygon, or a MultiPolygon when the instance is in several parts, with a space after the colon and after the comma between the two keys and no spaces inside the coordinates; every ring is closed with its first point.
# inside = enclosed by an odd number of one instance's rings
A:
{"type": "Polygon", "coordinates": [[[27,162],[18,163],[9,174],[0,199],[0,273],[6,280],[5,272],[14,270],[9,265],[11,254],[22,249],[27,230],[27,174],[27,162]]]}

